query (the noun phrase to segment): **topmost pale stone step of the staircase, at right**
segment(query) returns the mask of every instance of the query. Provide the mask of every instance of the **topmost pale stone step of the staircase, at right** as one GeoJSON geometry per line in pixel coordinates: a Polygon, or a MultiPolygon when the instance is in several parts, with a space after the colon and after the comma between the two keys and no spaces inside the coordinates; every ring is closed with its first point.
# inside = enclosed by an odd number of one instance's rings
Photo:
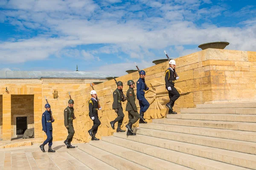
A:
{"type": "Polygon", "coordinates": [[[256,108],[256,102],[199,104],[196,108],[256,108]]]}

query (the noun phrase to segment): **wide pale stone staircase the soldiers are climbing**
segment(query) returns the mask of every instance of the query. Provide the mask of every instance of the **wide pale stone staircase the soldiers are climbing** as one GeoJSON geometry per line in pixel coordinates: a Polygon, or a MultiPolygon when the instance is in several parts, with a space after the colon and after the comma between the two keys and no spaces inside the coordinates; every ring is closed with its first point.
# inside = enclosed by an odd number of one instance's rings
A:
{"type": "Polygon", "coordinates": [[[256,102],[203,104],[68,153],[93,170],[256,170],[256,102]]]}

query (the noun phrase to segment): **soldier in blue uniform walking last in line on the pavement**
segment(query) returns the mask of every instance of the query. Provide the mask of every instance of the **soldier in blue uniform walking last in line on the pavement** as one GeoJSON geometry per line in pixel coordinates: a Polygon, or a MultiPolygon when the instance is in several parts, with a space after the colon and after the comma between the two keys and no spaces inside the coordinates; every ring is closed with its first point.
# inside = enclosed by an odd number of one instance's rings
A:
{"type": "Polygon", "coordinates": [[[52,118],[52,111],[51,106],[47,103],[45,106],[46,111],[42,115],[42,126],[43,130],[47,135],[47,139],[44,141],[43,144],[40,145],[40,149],[45,152],[44,145],[48,143],[49,149],[48,152],[55,152],[55,150],[52,150],[52,122],[54,122],[54,119],[52,118]]]}

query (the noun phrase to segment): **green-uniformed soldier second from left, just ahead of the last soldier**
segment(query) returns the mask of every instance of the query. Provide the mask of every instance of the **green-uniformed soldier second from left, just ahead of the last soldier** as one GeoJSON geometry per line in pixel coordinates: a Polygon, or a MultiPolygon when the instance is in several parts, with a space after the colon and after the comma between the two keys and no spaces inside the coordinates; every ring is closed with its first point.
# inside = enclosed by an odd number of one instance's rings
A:
{"type": "Polygon", "coordinates": [[[70,99],[68,101],[68,106],[64,110],[64,125],[67,128],[68,136],[67,139],[64,141],[64,144],[67,145],[67,148],[75,148],[71,145],[73,136],[75,134],[75,130],[73,127],[73,115],[74,115],[74,100],[70,99]]]}

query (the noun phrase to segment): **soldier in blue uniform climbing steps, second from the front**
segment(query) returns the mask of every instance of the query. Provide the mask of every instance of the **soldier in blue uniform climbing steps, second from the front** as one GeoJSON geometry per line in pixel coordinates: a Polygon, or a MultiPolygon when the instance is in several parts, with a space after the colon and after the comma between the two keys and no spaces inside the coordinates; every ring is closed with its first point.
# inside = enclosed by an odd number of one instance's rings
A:
{"type": "Polygon", "coordinates": [[[140,70],[140,79],[137,81],[137,99],[139,100],[140,105],[140,122],[139,123],[147,123],[144,119],[144,113],[149,108],[149,103],[145,98],[145,91],[148,91],[149,88],[145,87],[145,77],[146,73],[144,70],[140,70]]]}

